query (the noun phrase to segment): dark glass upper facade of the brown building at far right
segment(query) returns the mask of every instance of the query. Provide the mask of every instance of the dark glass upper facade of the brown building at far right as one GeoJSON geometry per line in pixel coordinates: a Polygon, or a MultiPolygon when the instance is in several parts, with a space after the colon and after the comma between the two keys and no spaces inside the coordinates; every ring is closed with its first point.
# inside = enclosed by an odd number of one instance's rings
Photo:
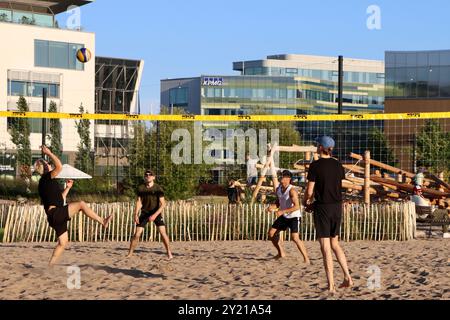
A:
{"type": "Polygon", "coordinates": [[[386,97],[450,98],[450,50],[387,51],[386,97]]]}

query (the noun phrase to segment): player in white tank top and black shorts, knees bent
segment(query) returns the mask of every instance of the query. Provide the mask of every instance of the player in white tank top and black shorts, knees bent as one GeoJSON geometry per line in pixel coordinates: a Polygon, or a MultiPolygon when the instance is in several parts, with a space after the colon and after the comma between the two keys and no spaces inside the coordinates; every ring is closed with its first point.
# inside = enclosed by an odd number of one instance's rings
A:
{"type": "Polygon", "coordinates": [[[300,211],[300,201],[298,199],[298,192],[294,186],[291,185],[292,173],[289,170],[284,170],[281,174],[281,183],[278,182],[278,177],[275,172],[274,164],[271,165],[273,188],[277,195],[277,204],[269,207],[270,211],[275,211],[278,218],[273,223],[269,230],[269,239],[278,251],[277,259],[286,256],[283,247],[280,244],[280,232],[287,228],[291,230],[291,239],[297,245],[298,250],[303,256],[306,264],[310,264],[305,245],[299,237],[300,222],[302,212],[300,211]],[[278,207],[278,210],[275,209],[278,207]]]}

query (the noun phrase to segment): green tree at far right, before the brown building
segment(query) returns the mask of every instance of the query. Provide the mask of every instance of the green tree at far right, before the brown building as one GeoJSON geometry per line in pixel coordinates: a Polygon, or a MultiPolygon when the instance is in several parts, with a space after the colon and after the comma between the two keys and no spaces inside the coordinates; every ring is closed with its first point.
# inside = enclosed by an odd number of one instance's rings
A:
{"type": "Polygon", "coordinates": [[[417,135],[417,165],[435,173],[449,170],[449,136],[437,120],[427,120],[417,135]]]}

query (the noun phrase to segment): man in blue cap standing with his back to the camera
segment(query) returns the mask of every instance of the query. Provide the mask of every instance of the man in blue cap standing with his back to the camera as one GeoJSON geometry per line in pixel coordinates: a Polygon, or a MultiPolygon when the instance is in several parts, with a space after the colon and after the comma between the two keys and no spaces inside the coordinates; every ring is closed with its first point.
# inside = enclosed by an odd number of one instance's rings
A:
{"type": "Polygon", "coordinates": [[[345,171],[342,164],[331,157],[335,142],[331,137],[323,136],[316,140],[320,159],[314,161],[308,170],[308,184],[303,204],[314,210],[314,225],[320,242],[328,290],[335,292],[333,276],[333,251],[344,272],[344,282],[340,288],[351,287],[352,278],[347,266],[344,251],[339,245],[339,231],[342,220],[342,180],[345,171]],[[313,199],[315,199],[313,204],[313,199]]]}

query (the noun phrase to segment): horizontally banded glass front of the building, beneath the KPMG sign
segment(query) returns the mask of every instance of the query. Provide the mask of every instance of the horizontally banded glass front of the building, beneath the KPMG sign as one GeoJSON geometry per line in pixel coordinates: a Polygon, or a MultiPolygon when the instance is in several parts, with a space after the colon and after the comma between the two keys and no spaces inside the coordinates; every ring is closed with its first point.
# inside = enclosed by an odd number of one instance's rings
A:
{"type": "MultiPolygon", "coordinates": [[[[337,77],[336,77],[337,78],[337,77]]],[[[336,81],[291,76],[203,76],[202,113],[233,115],[254,110],[278,115],[337,113],[336,81]],[[220,85],[205,79],[223,79],[220,85]]],[[[344,113],[383,112],[382,85],[344,82],[344,113]]]]}

